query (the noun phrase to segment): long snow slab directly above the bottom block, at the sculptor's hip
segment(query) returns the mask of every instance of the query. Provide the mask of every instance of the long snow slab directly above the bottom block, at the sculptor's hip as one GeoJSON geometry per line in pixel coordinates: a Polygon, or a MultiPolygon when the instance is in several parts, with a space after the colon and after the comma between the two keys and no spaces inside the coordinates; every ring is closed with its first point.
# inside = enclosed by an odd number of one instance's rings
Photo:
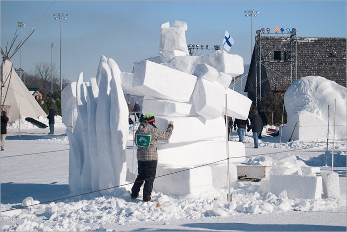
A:
{"type": "MultiPolygon", "coordinates": [[[[173,133],[174,133],[173,129],[173,133]]],[[[229,162],[245,161],[245,145],[228,141],[229,162]]],[[[198,166],[226,162],[226,141],[209,140],[195,143],[164,144],[158,143],[158,164],[168,167],[198,166]]]]}

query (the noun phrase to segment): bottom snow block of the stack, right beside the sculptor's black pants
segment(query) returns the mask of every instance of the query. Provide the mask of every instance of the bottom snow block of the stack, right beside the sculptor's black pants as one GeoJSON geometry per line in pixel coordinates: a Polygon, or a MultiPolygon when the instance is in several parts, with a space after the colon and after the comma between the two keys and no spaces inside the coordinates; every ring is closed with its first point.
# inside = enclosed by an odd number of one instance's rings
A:
{"type": "Polygon", "coordinates": [[[209,166],[189,169],[188,166],[173,168],[158,164],[156,176],[153,190],[166,195],[199,195],[213,188],[212,171],[209,166]]]}

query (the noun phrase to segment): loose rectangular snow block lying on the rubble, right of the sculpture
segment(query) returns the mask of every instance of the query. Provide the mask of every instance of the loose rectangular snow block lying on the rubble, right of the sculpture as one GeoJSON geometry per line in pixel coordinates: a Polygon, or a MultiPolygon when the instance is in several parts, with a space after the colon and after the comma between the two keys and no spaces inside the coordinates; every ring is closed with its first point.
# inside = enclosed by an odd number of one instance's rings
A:
{"type": "Polygon", "coordinates": [[[284,190],[288,198],[318,199],[322,195],[321,176],[270,175],[269,192],[278,195],[284,190]]]}

